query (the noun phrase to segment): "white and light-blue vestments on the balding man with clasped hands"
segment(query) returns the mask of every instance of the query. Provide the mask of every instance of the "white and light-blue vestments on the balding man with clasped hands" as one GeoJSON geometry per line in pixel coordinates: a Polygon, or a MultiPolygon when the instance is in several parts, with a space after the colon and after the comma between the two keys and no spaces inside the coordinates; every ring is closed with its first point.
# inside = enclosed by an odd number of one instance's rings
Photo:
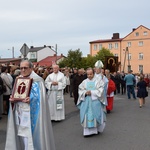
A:
{"type": "Polygon", "coordinates": [[[84,128],[83,135],[103,132],[106,121],[103,80],[96,77],[92,80],[85,79],[79,85],[77,106],[80,109],[80,122],[84,128]],[[90,96],[85,95],[88,90],[91,91],[90,96]]]}

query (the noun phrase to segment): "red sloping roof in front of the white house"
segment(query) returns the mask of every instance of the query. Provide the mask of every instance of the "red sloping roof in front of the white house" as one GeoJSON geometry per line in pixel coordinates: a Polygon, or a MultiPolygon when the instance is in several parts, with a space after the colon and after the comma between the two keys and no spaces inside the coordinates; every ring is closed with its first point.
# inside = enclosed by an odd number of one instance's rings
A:
{"type": "Polygon", "coordinates": [[[40,60],[39,62],[37,63],[34,63],[34,64],[38,64],[40,66],[52,66],[53,63],[55,63],[56,61],[58,61],[59,59],[63,58],[65,56],[63,55],[60,55],[60,56],[48,56],[42,60],[40,60]],[[57,57],[57,58],[56,58],[57,57]]]}

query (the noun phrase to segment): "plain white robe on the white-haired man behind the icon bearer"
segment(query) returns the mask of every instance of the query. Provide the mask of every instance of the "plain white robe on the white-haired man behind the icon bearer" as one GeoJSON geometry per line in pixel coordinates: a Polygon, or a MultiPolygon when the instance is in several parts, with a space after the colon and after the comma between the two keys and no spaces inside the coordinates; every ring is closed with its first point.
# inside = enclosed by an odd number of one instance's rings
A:
{"type": "Polygon", "coordinates": [[[63,90],[66,87],[66,80],[62,72],[52,73],[45,80],[48,89],[48,105],[50,108],[51,120],[60,121],[65,119],[65,106],[63,90]],[[58,85],[52,85],[58,82],[58,85]]]}

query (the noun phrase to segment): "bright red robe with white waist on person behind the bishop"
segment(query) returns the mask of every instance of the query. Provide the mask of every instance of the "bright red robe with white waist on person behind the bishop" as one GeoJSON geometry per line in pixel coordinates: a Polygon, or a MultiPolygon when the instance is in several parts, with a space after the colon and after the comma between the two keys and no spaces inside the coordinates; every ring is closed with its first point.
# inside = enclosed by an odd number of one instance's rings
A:
{"type": "Polygon", "coordinates": [[[107,106],[106,110],[111,111],[113,109],[114,103],[114,91],[116,90],[116,85],[113,80],[109,79],[107,87],[107,106]]]}

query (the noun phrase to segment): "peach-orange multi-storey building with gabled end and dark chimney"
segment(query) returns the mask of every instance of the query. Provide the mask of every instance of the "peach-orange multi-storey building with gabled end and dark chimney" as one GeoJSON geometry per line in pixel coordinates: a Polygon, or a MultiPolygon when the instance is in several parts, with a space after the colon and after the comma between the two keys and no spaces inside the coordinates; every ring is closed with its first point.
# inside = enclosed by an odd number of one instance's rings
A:
{"type": "Polygon", "coordinates": [[[150,73],[150,29],[140,25],[124,38],[113,33],[111,39],[96,40],[90,43],[90,54],[96,55],[102,47],[109,49],[118,56],[121,63],[119,71],[132,69],[134,73],[150,73]]]}

